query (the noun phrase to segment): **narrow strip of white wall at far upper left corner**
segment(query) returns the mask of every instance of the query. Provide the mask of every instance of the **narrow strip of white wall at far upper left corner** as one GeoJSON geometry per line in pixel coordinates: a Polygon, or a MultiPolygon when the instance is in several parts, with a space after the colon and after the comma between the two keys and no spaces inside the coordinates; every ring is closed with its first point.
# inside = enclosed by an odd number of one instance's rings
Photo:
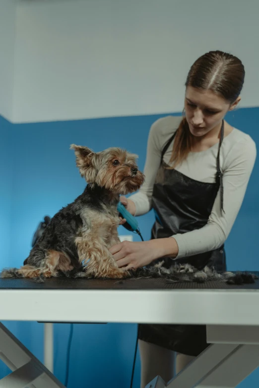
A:
{"type": "Polygon", "coordinates": [[[0,114],[12,117],[16,0],[0,0],[0,114]]]}

